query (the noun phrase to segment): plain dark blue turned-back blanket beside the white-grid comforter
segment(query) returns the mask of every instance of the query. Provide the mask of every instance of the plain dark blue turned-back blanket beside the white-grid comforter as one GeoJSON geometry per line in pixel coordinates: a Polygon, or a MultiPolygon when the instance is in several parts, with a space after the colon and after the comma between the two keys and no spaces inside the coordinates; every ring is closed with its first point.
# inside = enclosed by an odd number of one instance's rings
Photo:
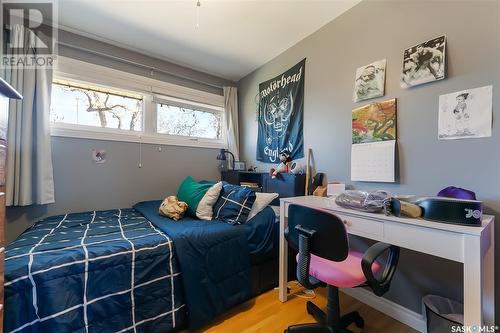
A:
{"type": "Polygon", "coordinates": [[[134,209],[173,240],[189,328],[197,329],[250,298],[250,252],[272,248],[275,215],[268,208],[255,216],[256,223],[241,226],[190,217],[173,221],[158,214],[160,204],[145,201],[134,209]]]}

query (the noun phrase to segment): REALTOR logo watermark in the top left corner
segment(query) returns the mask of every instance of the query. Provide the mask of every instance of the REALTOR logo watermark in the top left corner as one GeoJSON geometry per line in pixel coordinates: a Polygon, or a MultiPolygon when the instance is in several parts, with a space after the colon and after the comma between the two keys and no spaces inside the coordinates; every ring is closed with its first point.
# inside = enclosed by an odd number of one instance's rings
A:
{"type": "Polygon", "coordinates": [[[57,40],[56,2],[1,0],[2,68],[54,65],[57,40]]]}

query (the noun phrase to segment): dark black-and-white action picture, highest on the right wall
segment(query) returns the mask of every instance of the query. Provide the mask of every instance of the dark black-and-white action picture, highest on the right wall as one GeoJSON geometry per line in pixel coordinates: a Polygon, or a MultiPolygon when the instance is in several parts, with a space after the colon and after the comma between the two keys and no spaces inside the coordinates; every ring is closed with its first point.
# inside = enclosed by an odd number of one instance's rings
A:
{"type": "Polygon", "coordinates": [[[446,36],[410,47],[404,51],[401,87],[442,80],[446,69],[446,36]]]}

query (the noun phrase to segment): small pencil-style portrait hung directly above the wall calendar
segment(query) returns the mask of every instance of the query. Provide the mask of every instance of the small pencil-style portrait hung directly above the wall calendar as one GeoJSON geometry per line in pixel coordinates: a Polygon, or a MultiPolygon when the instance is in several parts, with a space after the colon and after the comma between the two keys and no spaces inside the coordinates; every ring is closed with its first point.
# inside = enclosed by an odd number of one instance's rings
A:
{"type": "Polygon", "coordinates": [[[353,101],[384,96],[386,60],[375,61],[356,70],[353,101]]]}

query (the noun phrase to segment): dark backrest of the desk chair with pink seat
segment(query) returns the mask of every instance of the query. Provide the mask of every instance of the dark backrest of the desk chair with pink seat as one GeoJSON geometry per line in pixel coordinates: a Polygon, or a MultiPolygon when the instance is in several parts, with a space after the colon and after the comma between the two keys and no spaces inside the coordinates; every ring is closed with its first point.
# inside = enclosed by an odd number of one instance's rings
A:
{"type": "Polygon", "coordinates": [[[335,214],[299,205],[288,207],[287,239],[291,246],[299,248],[299,231],[296,226],[315,231],[309,243],[309,251],[331,261],[344,261],[349,252],[349,242],[344,223],[335,214]]]}

